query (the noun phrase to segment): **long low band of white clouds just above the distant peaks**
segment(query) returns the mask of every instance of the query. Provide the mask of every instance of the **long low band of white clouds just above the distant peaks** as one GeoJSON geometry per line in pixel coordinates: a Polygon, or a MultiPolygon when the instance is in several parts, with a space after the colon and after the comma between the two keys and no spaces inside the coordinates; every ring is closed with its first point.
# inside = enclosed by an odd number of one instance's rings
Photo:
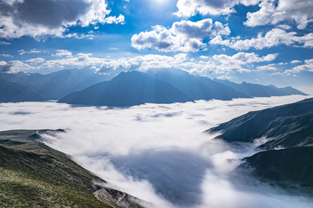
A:
{"type": "MultiPolygon", "coordinates": [[[[271,62],[277,53],[259,56],[256,53],[239,52],[232,56],[214,55],[190,58],[187,53],[168,55],[137,55],[129,54],[123,58],[95,58],[92,53],[72,54],[71,51],[57,50],[52,57],[55,59],[32,59],[31,69],[63,69],[72,67],[92,67],[97,73],[115,76],[121,71],[147,71],[149,69],[182,69],[189,73],[208,76],[211,73],[250,72],[255,62],[271,62]]],[[[26,62],[26,61],[24,61],[26,62]]],[[[29,69],[29,68],[28,68],[29,69]]]]}

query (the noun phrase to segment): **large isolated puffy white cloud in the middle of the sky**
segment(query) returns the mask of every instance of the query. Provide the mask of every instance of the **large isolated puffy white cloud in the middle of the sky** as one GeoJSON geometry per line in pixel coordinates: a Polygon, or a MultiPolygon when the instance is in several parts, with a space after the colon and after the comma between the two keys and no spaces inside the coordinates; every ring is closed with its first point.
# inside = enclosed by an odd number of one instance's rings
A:
{"type": "Polygon", "coordinates": [[[145,31],[131,37],[131,46],[136,49],[152,48],[158,51],[198,51],[204,46],[205,37],[229,35],[230,28],[212,19],[200,21],[177,21],[168,29],[152,26],[152,31],[145,31]]]}

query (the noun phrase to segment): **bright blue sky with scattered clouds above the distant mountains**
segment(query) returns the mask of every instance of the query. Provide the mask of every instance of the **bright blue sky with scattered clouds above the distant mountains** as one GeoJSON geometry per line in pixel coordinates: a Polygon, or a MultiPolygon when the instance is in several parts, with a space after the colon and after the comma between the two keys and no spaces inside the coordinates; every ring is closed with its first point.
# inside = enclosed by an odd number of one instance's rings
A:
{"type": "Polygon", "coordinates": [[[313,1],[1,0],[0,71],[178,68],[313,92],[313,1]]]}

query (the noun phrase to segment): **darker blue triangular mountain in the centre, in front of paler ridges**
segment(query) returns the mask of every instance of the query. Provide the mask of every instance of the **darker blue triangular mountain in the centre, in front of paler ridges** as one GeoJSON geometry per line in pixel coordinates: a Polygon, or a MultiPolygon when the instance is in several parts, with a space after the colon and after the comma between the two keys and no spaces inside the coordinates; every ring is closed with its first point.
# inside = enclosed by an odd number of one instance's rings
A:
{"type": "Polygon", "coordinates": [[[58,103],[82,105],[131,106],[143,103],[184,103],[192,98],[161,80],[139,71],[121,72],[111,81],[74,92],[58,103]]]}

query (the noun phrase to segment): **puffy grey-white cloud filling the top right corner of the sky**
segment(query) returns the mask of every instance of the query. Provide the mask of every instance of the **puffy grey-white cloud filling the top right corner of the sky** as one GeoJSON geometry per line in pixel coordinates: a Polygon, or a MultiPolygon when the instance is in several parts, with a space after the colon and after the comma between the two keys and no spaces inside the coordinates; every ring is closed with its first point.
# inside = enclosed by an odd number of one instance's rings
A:
{"type": "Polygon", "coordinates": [[[278,24],[295,21],[299,29],[306,28],[313,21],[313,2],[302,0],[265,0],[259,3],[259,10],[247,13],[246,26],[278,24]]]}

